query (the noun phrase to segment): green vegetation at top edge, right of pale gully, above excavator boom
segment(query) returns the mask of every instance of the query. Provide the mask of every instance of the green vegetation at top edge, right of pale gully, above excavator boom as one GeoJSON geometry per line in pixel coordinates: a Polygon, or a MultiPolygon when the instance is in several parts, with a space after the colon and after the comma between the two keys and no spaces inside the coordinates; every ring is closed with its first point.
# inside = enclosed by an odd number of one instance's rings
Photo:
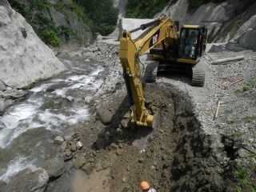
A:
{"type": "Polygon", "coordinates": [[[155,14],[168,6],[169,2],[170,0],[129,0],[126,3],[126,18],[153,18],[155,14]]]}

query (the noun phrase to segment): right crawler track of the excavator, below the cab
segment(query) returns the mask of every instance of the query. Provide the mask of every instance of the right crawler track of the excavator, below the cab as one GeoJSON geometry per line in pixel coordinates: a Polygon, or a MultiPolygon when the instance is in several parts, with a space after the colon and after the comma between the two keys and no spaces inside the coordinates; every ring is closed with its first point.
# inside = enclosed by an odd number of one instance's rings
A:
{"type": "Polygon", "coordinates": [[[192,82],[191,86],[203,86],[206,79],[206,70],[203,62],[198,62],[192,66],[192,82]]]}

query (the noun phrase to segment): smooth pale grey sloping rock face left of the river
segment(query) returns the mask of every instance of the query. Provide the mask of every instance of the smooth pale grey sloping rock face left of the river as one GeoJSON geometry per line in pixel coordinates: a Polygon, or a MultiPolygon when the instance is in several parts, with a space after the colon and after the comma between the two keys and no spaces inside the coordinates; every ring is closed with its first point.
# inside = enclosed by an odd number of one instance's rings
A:
{"type": "Polygon", "coordinates": [[[26,86],[66,70],[6,0],[0,2],[0,21],[0,80],[7,86],[26,86]]]}

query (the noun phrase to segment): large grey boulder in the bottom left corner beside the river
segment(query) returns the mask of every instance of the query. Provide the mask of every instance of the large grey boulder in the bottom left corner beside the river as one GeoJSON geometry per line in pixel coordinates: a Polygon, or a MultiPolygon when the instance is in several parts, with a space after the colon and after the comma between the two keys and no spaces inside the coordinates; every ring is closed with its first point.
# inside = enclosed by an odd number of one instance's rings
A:
{"type": "Polygon", "coordinates": [[[18,172],[5,186],[3,191],[43,192],[48,180],[49,177],[46,170],[30,166],[18,172]]]}

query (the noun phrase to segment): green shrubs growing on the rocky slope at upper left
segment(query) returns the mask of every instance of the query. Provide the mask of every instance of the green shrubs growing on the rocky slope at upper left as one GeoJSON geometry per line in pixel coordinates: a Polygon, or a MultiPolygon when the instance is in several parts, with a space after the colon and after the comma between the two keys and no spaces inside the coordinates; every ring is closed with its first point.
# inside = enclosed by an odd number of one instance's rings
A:
{"type": "Polygon", "coordinates": [[[27,0],[26,4],[18,0],[9,0],[10,6],[18,11],[26,21],[33,27],[38,37],[42,39],[49,46],[61,46],[62,42],[67,42],[70,36],[74,37],[78,42],[85,42],[86,39],[82,40],[77,33],[75,33],[68,26],[56,26],[53,18],[50,14],[50,8],[54,6],[56,10],[59,10],[65,15],[66,22],[70,22],[70,18],[66,12],[66,9],[74,10],[74,13],[85,22],[84,10],[77,6],[74,2],[63,3],[60,0],[56,4],[52,4],[47,0],[27,0]],[[50,18],[45,15],[48,13],[50,18]]]}

